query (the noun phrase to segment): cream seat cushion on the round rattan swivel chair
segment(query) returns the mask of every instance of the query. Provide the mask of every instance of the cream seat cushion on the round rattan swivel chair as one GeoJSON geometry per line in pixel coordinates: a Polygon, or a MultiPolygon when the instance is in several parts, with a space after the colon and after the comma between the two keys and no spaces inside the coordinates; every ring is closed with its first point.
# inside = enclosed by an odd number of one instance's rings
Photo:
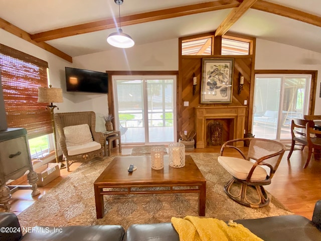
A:
{"type": "MultiPolygon", "coordinates": [[[[253,167],[253,163],[236,157],[218,158],[218,162],[231,175],[240,180],[246,180],[248,173],[253,167]]],[[[267,173],[264,168],[257,166],[252,174],[251,181],[263,181],[266,179],[267,173]]]]}

